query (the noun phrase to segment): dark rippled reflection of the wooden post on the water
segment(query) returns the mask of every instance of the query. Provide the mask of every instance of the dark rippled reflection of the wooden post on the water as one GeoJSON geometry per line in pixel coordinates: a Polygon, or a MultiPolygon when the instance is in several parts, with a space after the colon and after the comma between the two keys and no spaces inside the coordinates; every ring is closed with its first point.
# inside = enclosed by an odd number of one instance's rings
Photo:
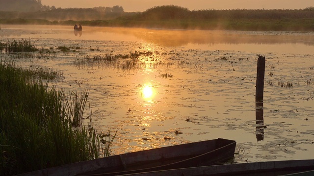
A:
{"type": "Polygon", "coordinates": [[[256,139],[257,141],[264,140],[264,109],[263,100],[256,100],[255,115],[256,115],[256,139]]]}

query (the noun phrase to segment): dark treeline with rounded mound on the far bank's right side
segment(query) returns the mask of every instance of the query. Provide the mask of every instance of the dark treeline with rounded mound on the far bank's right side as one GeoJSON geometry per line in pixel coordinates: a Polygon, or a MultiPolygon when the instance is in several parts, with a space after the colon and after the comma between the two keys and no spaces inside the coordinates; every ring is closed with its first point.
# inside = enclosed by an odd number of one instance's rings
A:
{"type": "Polygon", "coordinates": [[[193,10],[176,5],[157,6],[140,13],[138,20],[166,19],[313,19],[314,7],[304,9],[232,9],[232,10],[193,10]]]}

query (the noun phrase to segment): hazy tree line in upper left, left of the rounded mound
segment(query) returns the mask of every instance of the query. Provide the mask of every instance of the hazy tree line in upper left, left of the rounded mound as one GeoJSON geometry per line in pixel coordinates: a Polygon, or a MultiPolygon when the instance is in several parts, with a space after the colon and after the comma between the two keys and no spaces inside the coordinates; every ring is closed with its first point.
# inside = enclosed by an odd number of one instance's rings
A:
{"type": "Polygon", "coordinates": [[[0,0],[2,19],[110,20],[124,15],[122,6],[94,8],[56,8],[42,5],[41,0],[0,0]]]}

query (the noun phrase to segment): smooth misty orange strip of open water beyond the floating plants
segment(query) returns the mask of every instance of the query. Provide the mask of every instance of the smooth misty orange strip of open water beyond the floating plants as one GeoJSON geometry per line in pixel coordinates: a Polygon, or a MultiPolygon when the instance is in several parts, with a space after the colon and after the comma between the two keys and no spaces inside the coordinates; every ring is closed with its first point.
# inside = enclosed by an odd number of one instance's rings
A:
{"type": "Polygon", "coordinates": [[[0,36],[3,38],[133,41],[166,47],[248,50],[259,54],[264,52],[311,54],[311,47],[314,45],[314,32],[162,30],[84,26],[83,32],[75,35],[72,26],[2,25],[2,28],[0,36]],[[16,30],[12,31],[11,28],[16,30]],[[30,30],[33,32],[29,34],[30,30]]]}

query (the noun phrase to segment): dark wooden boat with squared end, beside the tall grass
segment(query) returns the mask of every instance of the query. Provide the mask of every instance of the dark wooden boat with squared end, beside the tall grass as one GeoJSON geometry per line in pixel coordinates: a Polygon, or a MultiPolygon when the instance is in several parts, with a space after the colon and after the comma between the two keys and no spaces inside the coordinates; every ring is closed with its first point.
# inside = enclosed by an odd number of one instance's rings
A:
{"type": "Polygon", "coordinates": [[[234,156],[234,140],[213,139],[62,165],[20,176],[122,175],[213,165],[234,156]]]}

